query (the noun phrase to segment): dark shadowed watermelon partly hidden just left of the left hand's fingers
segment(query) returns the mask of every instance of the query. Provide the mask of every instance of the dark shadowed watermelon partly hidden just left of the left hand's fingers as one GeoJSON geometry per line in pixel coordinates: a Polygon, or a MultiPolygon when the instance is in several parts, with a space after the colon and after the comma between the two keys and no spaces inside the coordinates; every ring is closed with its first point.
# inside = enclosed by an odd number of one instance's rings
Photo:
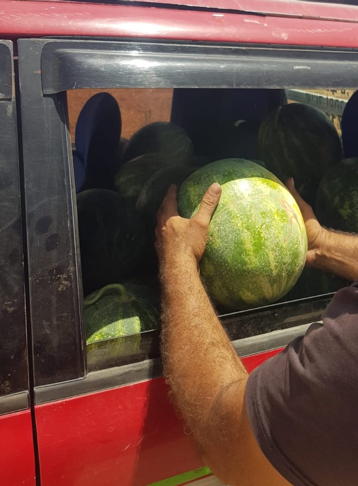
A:
{"type": "Polygon", "coordinates": [[[156,213],[163,202],[170,184],[180,186],[194,170],[194,168],[183,165],[166,167],[153,174],[144,184],[138,196],[136,208],[146,220],[153,238],[156,226],[156,213]]]}

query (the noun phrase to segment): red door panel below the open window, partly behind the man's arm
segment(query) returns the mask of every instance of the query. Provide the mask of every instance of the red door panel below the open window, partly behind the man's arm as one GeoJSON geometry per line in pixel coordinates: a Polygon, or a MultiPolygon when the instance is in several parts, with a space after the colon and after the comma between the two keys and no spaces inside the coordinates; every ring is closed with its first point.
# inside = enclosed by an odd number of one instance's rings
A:
{"type": "MultiPolygon", "coordinates": [[[[244,358],[249,370],[278,352],[244,358]]],[[[201,467],[159,378],[35,406],[42,486],[145,486],[201,467]]]]}

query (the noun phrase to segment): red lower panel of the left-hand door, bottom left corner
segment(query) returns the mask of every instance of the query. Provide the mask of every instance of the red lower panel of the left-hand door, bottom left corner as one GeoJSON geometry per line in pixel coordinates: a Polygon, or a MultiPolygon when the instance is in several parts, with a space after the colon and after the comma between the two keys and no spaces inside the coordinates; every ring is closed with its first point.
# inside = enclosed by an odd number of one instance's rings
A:
{"type": "Polygon", "coordinates": [[[1,486],[35,486],[30,410],[0,416],[1,486]]]}

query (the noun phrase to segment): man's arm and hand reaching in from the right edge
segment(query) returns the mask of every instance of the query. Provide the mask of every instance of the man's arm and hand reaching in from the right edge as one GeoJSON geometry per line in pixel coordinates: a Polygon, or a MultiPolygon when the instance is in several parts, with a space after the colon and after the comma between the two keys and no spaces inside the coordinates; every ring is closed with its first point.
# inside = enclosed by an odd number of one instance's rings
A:
{"type": "Polygon", "coordinates": [[[286,185],[305,220],[308,239],[307,266],[347,280],[358,280],[358,236],[322,227],[312,208],[295,190],[293,179],[290,178],[286,185]]]}

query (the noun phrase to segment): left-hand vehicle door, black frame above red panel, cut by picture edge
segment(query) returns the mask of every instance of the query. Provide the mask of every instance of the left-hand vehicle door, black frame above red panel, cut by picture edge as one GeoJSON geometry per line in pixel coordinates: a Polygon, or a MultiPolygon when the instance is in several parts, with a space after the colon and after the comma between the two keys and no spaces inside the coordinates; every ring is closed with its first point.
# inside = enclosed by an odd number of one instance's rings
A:
{"type": "Polygon", "coordinates": [[[0,471],[34,486],[13,44],[0,40],[0,471]]]}

